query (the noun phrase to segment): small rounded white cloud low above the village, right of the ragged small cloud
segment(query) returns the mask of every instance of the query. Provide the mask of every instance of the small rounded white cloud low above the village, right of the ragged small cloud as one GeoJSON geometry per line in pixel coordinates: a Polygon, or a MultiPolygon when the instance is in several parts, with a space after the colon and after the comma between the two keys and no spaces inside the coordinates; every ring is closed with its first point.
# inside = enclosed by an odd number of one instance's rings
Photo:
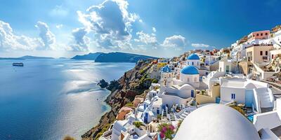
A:
{"type": "Polygon", "coordinates": [[[165,48],[176,48],[177,50],[181,50],[185,45],[185,37],[181,35],[174,35],[165,38],[162,45],[165,48]]]}

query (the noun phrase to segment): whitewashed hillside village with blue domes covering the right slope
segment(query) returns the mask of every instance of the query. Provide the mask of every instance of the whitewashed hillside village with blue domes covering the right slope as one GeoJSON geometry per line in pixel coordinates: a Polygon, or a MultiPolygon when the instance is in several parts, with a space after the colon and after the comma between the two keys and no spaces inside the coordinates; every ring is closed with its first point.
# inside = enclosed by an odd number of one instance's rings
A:
{"type": "Polygon", "coordinates": [[[281,139],[281,99],[272,90],[281,93],[280,60],[280,26],[221,50],[152,60],[142,68],[149,90],[119,106],[93,139],[281,139]]]}

